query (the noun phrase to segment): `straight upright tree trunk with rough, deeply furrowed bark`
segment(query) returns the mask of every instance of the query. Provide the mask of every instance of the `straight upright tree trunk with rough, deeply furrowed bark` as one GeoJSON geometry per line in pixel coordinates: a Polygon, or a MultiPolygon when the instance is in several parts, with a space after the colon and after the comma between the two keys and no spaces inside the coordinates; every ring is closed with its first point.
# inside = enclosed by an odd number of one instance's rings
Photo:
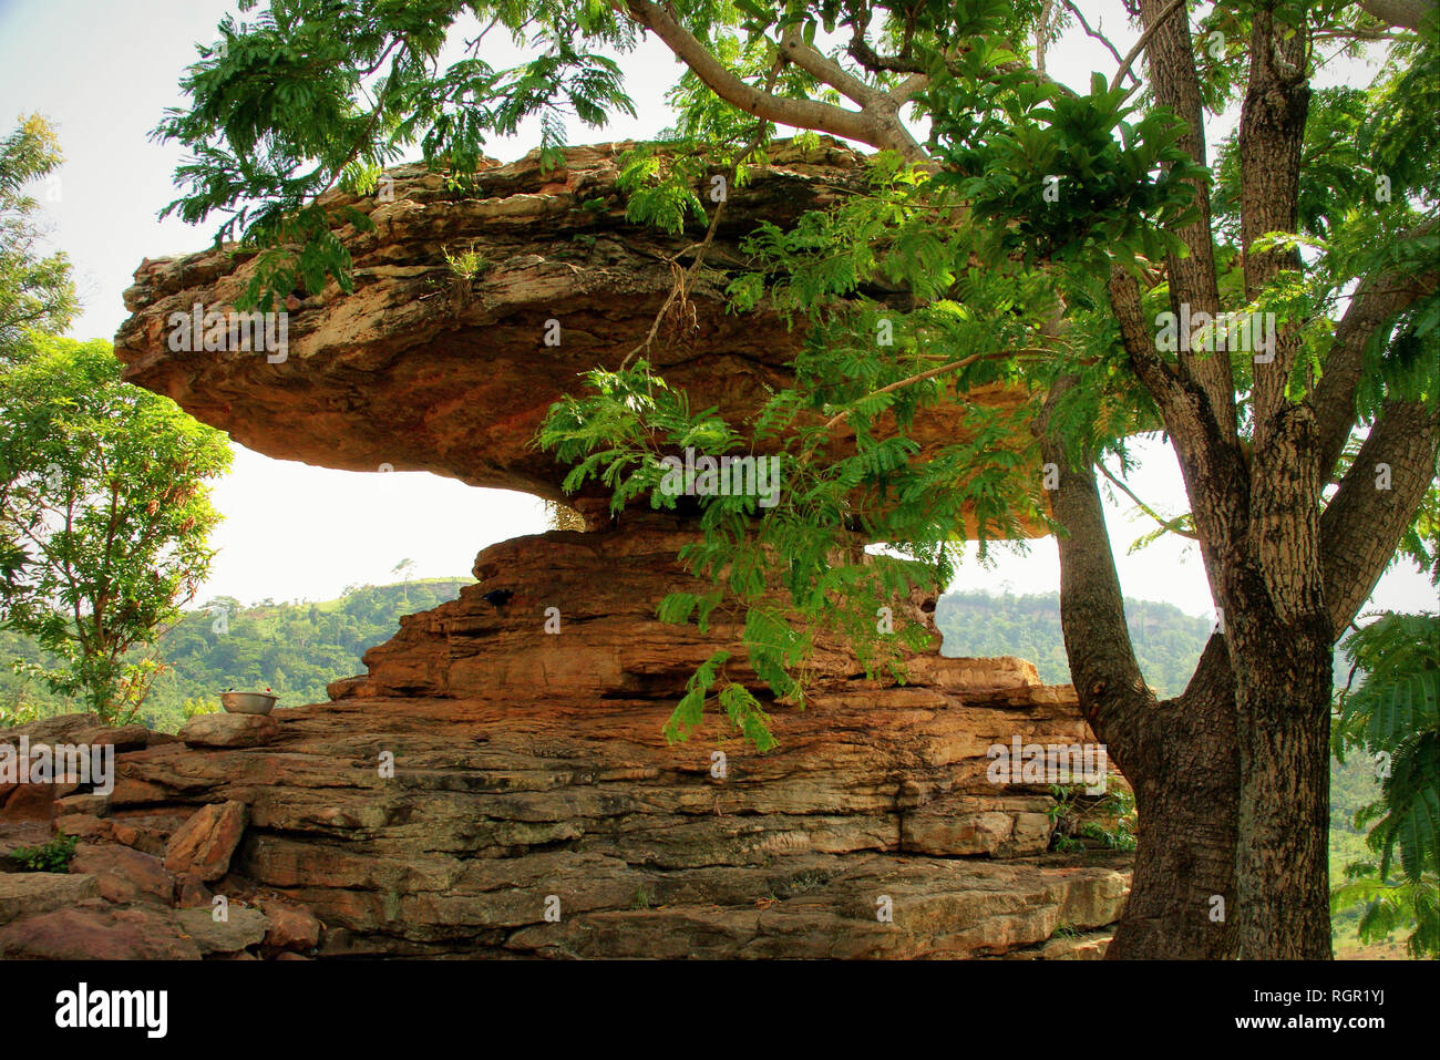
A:
{"type": "MultiPolygon", "coordinates": [[[[1256,249],[1295,232],[1309,112],[1305,24],[1259,12],[1240,118],[1241,236],[1247,297],[1284,269],[1287,248],[1256,249]]],[[[1248,518],[1224,557],[1230,662],[1240,733],[1236,913],[1241,958],[1331,958],[1329,707],[1332,645],[1320,562],[1323,448],[1312,402],[1286,395],[1299,357],[1296,327],[1256,360],[1254,459],[1248,518]]]]}

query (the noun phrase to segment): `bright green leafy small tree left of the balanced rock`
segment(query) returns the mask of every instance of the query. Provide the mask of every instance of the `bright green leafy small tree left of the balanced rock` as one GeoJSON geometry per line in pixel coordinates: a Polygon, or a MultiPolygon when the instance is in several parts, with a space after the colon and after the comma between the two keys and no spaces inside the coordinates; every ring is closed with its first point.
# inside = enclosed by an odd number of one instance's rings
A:
{"type": "Polygon", "coordinates": [[[104,341],[32,333],[0,374],[0,624],[36,673],[107,720],[144,704],[156,635],[193,599],[220,514],[223,432],[121,382],[104,341]]]}

